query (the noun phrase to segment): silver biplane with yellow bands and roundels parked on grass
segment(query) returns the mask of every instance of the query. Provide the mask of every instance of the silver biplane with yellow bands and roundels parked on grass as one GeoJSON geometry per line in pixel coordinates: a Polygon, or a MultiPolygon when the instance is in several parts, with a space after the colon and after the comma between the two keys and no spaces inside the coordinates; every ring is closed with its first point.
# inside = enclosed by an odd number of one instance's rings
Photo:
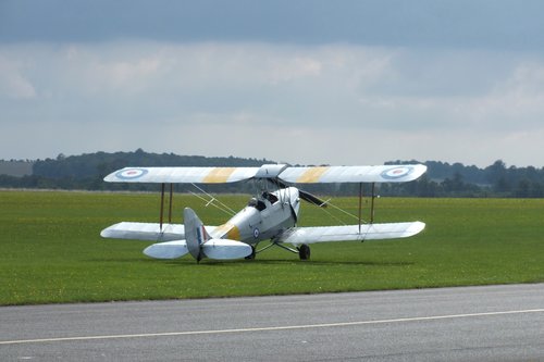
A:
{"type": "MultiPolygon", "coordinates": [[[[374,223],[375,184],[411,182],[425,173],[422,164],[379,166],[289,166],[264,164],[260,167],[125,167],[104,177],[108,183],[161,184],[159,223],[122,222],[103,229],[104,238],[154,241],[144,253],[157,259],[175,259],[189,253],[200,262],[255,259],[256,253],[280,247],[310,259],[309,245],[324,241],[367,241],[406,238],[425,227],[419,221],[374,223]],[[190,208],[183,211],[183,224],[172,223],[173,184],[221,184],[255,179],[264,185],[247,205],[226,223],[203,225],[190,208]],[[299,184],[359,184],[358,223],[339,226],[297,226],[300,200],[326,208],[327,201],[295,187],[299,184]],[[370,222],[361,220],[362,185],[371,185],[370,222]],[[164,221],[165,186],[170,185],[170,208],[164,221]],[[264,240],[270,244],[257,249],[264,240]]],[[[210,201],[211,202],[211,201],[210,201]]]]}

